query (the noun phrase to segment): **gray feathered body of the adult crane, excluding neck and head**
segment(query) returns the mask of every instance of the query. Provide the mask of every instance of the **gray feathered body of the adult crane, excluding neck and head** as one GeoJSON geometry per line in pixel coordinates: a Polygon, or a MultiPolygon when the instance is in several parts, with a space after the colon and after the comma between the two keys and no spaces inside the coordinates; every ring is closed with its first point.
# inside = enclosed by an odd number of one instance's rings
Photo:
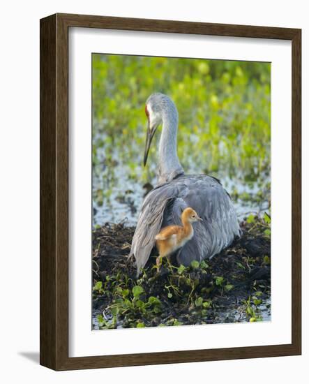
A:
{"type": "Polygon", "coordinates": [[[144,200],[133,237],[137,276],[146,265],[160,229],[181,224],[181,212],[192,207],[203,221],[177,256],[179,263],[211,258],[240,235],[232,200],[220,182],[206,175],[182,176],[153,189],[144,200]]]}

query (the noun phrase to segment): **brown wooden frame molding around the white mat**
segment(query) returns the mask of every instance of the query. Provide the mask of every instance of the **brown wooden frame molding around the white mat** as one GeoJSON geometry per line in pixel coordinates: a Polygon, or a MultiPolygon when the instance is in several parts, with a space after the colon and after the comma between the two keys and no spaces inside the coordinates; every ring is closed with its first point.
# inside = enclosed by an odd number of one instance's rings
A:
{"type": "Polygon", "coordinates": [[[56,14],[40,20],[40,364],[55,370],[301,355],[301,29],[56,14]],[[292,344],[68,357],[68,29],[292,40],[292,344]]]}

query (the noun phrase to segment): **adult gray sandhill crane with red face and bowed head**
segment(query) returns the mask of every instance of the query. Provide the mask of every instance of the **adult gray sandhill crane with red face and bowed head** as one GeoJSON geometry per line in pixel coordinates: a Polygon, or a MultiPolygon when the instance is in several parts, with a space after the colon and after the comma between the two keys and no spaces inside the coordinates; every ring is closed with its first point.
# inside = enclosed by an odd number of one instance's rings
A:
{"type": "Polygon", "coordinates": [[[177,156],[178,112],[164,94],[151,94],[146,101],[148,128],[144,165],[153,135],[160,124],[158,186],[146,195],[133,236],[130,256],[135,257],[137,276],[146,265],[161,228],[181,224],[181,213],[195,209],[202,221],[195,224],[192,239],[176,256],[179,264],[211,258],[240,236],[241,230],[229,194],[220,181],[207,175],[185,175],[177,156]]]}

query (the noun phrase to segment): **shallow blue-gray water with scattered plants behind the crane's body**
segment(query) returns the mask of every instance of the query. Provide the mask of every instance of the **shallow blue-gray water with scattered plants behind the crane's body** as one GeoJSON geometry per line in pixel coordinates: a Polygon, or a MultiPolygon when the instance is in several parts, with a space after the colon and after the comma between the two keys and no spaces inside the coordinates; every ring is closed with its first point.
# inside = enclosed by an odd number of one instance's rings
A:
{"type": "MultiPolygon", "coordinates": [[[[114,138],[102,133],[98,126],[94,126],[93,135],[93,226],[104,223],[119,223],[125,221],[128,226],[135,226],[142,201],[147,190],[143,188],[146,182],[156,186],[157,156],[149,153],[146,167],[142,165],[143,145],[130,141],[126,151],[122,151],[114,138]],[[102,143],[105,143],[103,145],[102,143]]],[[[153,147],[156,147],[153,139],[153,147]]],[[[190,133],[190,141],[198,140],[198,136],[190,133]]],[[[158,144],[158,143],[157,143],[158,144]]],[[[220,149],[224,153],[224,149],[220,149]]],[[[235,148],[235,153],[239,149],[235,148]]],[[[228,157],[228,154],[225,154],[228,157]]],[[[186,154],[181,159],[186,174],[206,173],[220,179],[227,192],[232,195],[239,219],[249,212],[263,212],[269,208],[270,176],[262,174],[254,167],[249,175],[245,170],[236,168],[231,170],[222,163],[218,172],[204,172],[204,165],[195,153],[186,154]],[[232,172],[232,175],[229,174],[232,172]],[[258,196],[258,198],[257,198],[258,196]],[[242,198],[244,197],[244,198],[242,198]]]]}

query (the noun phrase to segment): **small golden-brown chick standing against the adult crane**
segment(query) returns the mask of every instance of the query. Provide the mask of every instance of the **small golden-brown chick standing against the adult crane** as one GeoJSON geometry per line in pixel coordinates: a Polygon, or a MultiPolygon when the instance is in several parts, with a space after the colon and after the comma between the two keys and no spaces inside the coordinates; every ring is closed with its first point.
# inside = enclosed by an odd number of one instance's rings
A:
{"type": "Polygon", "coordinates": [[[186,208],[181,214],[183,226],[167,226],[156,235],[156,246],[159,251],[159,256],[156,259],[158,270],[162,258],[166,257],[169,262],[169,256],[192,239],[194,233],[192,223],[195,221],[202,221],[202,219],[194,209],[186,208]]]}

